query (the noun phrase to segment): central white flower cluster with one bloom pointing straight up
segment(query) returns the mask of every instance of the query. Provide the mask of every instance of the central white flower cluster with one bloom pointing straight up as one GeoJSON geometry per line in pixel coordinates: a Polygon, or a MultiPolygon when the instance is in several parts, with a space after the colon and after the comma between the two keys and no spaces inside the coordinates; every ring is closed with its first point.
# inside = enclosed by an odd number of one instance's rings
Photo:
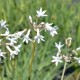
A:
{"type": "MultiPolygon", "coordinates": [[[[50,35],[53,37],[55,36],[57,33],[57,29],[58,27],[57,26],[52,26],[52,23],[45,23],[45,22],[40,22],[38,23],[38,20],[40,17],[46,17],[48,15],[45,14],[46,10],[42,11],[42,7],[40,8],[40,10],[38,11],[37,10],[37,22],[34,22],[32,20],[32,17],[29,15],[29,20],[30,20],[30,23],[32,24],[32,27],[34,29],[34,31],[36,32],[36,35],[34,36],[34,41],[36,41],[37,43],[40,43],[40,40],[41,41],[45,41],[44,40],[44,36],[41,35],[41,31],[42,30],[47,30],[50,35]]],[[[31,41],[31,39],[29,39],[31,41]]]]}

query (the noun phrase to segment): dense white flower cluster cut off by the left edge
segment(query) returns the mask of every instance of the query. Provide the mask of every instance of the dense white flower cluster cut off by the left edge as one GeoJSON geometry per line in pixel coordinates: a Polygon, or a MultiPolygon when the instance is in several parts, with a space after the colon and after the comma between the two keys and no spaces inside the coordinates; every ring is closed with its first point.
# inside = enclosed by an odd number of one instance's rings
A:
{"type": "MultiPolygon", "coordinates": [[[[18,52],[20,52],[21,43],[18,44],[18,39],[23,35],[23,33],[26,31],[19,31],[14,34],[10,34],[10,31],[6,25],[6,21],[1,20],[0,21],[0,30],[5,29],[3,33],[0,33],[0,46],[4,47],[6,46],[6,49],[8,51],[2,52],[2,49],[0,49],[0,59],[1,57],[6,58],[4,55],[6,53],[10,53],[10,60],[14,58],[15,55],[18,55],[18,52]]],[[[1,60],[0,60],[1,62],[1,60]]]]}

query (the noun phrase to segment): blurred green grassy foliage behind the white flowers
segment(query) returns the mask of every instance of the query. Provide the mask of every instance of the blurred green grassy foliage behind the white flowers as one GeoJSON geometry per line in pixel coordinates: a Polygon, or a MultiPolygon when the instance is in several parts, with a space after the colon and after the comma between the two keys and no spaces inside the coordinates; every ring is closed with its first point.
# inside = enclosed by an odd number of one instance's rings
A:
{"type": "MultiPolygon", "coordinates": [[[[48,14],[43,21],[57,25],[59,34],[51,38],[46,33],[44,34],[46,42],[36,44],[31,80],[56,80],[54,78],[59,77],[63,64],[56,67],[51,63],[52,55],[56,54],[55,41],[63,42],[67,37],[72,37],[72,47],[75,49],[80,46],[80,2],[77,0],[0,0],[0,20],[6,20],[11,33],[14,33],[29,28],[28,16],[33,16],[35,20],[36,10],[40,7],[47,10],[48,14]]],[[[0,64],[0,77],[2,76],[0,80],[27,80],[31,49],[31,43],[28,45],[24,43],[21,52],[14,60],[6,59],[3,64],[0,64]]],[[[67,67],[72,64],[74,77],[77,77],[80,66],[71,63],[67,67]]],[[[71,80],[72,75],[73,73],[69,74],[65,80],[71,80]]]]}

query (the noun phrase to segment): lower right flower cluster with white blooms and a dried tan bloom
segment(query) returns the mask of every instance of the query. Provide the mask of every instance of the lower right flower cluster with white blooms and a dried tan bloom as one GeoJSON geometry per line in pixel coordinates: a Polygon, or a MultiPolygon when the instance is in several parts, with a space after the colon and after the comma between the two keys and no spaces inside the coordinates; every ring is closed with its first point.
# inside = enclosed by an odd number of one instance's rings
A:
{"type": "Polygon", "coordinates": [[[58,63],[60,62],[71,62],[73,60],[76,60],[78,63],[80,63],[80,57],[78,58],[78,54],[77,51],[80,50],[80,47],[76,48],[75,50],[70,49],[71,46],[71,42],[72,42],[72,38],[68,37],[65,40],[65,44],[61,44],[61,42],[59,43],[55,43],[55,47],[58,49],[57,55],[56,56],[52,56],[53,60],[52,62],[55,62],[55,65],[57,66],[58,63]],[[65,52],[62,50],[62,47],[64,47],[64,49],[66,50],[65,52]]]}

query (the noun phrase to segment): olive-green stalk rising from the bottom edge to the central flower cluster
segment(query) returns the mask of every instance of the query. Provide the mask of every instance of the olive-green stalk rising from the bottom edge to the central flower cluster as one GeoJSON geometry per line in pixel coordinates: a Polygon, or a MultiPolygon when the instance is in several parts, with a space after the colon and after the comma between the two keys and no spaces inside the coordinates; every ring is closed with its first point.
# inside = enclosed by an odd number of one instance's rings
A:
{"type": "Polygon", "coordinates": [[[32,64],[33,64],[33,61],[34,61],[34,57],[35,57],[35,42],[32,43],[32,55],[31,55],[30,63],[29,63],[29,77],[28,77],[28,80],[30,80],[30,78],[31,78],[32,64]]]}

